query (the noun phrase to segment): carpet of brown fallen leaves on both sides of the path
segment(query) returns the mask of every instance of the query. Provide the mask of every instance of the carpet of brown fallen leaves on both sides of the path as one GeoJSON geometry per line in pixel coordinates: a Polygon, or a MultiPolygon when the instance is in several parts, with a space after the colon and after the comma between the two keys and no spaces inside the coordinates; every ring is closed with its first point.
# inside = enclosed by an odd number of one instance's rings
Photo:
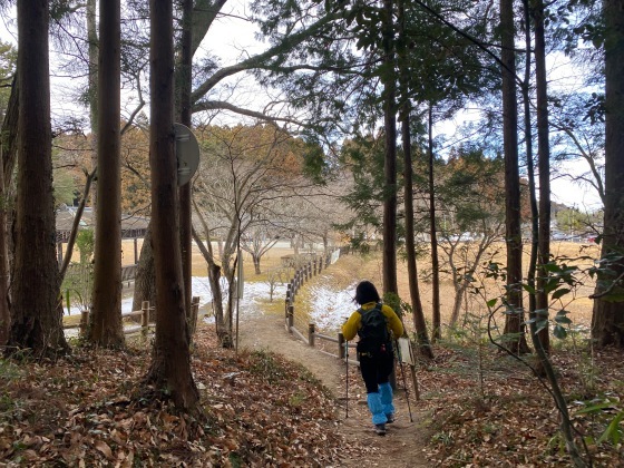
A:
{"type": "MultiPolygon", "coordinates": [[[[379,460],[388,454],[391,464],[392,456],[422,452],[430,466],[440,467],[569,466],[558,415],[525,368],[489,353],[479,370],[469,350],[436,351],[436,360],[418,372],[422,400],[415,408],[428,421],[421,422],[422,431],[431,436],[426,443],[425,437],[399,439],[396,432],[384,438],[400,440],[392,452],[374,435],[345,443],[337,402],[301,365],[269,352],[218,349],[205,329],[193,353],[203,409],[197,418],[142,391],[150,359],[144,345],[126,352],[78,348],[53,367],[0,361],[0,460],[14,466],[363,467],[371,465],[359,460],[383,466],[379,460]]],[[[594,466],[621,466],[622,443],[597,437],[622,408],[621,354],[596,355],[599,386],[592,394],[581,386],[573,357],[554,358],[567,394],[583,393],[571,397],[571,412],[594,466]],[[595,410],[588,411],[591,404],[595,410]]],[[[364,393],[357,370],[351,378],[350,398],[357,403],[350,411],[365,413],[365,404],[358,404],[364,393]]]]}

